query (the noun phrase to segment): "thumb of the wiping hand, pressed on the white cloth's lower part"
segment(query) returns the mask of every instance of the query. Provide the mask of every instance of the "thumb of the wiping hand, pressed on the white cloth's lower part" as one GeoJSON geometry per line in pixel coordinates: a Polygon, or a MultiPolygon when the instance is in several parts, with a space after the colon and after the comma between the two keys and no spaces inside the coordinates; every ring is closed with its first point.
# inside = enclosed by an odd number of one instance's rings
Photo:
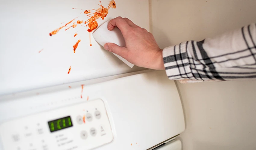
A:
{"type": "Polygon", "coordinates": [[[120,55],[121,57],[124,57],[127,53],[126,47],[120,47],[114,43],[106,43],[104,45],[104,49],[106,49],[109,52],[113,52],[117,55],[120,55]]]}

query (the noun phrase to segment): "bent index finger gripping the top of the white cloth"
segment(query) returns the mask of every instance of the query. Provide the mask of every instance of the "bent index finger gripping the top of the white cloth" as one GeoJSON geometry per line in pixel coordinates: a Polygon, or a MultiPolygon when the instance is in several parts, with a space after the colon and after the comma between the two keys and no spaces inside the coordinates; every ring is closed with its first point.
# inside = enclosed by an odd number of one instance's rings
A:
{"type": "Polygon", "coordinates": [[[122,17],[116,17],[109,21],[108,30],[113,30],[115,27],[120,29],[123,35],[129,32],[131,26],[122,17]]]}

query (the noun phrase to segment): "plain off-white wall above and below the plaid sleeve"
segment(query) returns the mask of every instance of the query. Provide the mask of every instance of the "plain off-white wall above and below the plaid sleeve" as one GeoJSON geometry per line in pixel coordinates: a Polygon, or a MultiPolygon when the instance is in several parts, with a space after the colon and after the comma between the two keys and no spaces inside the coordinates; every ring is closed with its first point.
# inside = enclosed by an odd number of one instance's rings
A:
{"type": "MultiPolygon", "coordinates": [[[[256,23],[256,1],[151,1],[159,46],[202,40],[256,23]]],[[[183,150],[256,149],[256,81],[181,84],[183,150]]]]}

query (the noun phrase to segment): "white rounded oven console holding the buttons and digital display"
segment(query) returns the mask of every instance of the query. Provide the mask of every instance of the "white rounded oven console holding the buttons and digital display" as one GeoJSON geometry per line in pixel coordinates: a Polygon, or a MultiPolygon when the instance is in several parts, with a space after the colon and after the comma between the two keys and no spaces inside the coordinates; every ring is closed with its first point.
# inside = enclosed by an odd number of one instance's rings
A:
{"type": "Polygon", "coordinates": [[[145,150],[185,129],[176,85],[164,71],[85,83],[0,97],[2,149],[145,150]],[[63,120],[69,127],[59,130],[63,120]]]}

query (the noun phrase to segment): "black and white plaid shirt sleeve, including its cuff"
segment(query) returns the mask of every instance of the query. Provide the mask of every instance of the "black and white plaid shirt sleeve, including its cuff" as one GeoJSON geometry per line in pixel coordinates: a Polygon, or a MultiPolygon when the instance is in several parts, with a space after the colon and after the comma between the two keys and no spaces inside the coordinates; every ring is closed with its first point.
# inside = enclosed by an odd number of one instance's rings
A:
{"type": "Polygon", "coordinates": [[[256,79],[256,25],[163,50],[169,79],[186,82],[256,79]]]}

